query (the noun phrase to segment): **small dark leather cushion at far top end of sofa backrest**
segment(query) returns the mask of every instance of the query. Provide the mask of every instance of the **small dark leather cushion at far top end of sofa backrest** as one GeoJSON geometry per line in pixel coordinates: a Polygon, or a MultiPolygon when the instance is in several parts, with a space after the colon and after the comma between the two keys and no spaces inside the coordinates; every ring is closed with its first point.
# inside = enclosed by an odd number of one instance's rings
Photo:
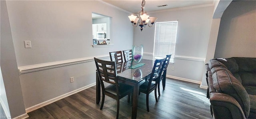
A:
{"type": "Polygon", "coordinates": [[[227,67],[227,69],[229,71],[231,71],[232,73],[238,72],[238,64],[237,64],[235,58],[219,58],[219,59],[216,59],[216,60],[223,63],[227,67]]]}

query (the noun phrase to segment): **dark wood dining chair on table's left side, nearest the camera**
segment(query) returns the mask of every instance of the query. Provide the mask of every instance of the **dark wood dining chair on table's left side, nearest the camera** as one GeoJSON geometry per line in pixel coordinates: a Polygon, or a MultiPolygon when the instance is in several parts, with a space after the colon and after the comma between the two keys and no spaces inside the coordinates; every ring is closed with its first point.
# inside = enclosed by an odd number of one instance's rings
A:
{"type": "Polygon", "coordinates": [[[115,61],[104,61],[97,58],[94,58],[94,60],[96,63],[97,73],[102,88],[102,101],[100,105],[100,110],[103,108],[105,95],[108,95],[109,97],[112,97],[117,101],[116,119],[118,119],[119,100],[128,95],[129,102],[130,94],[133,92],[133,87],[123,83],[118,83],[115,61]],[[109,85],[105,87],[103,81],[109,83],[109,85]]]}

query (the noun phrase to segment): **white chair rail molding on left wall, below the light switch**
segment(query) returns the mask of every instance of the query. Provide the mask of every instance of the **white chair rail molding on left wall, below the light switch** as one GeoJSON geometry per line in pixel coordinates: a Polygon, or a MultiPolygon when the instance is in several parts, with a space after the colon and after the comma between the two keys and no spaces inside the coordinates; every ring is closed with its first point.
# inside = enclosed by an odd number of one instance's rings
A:
{"type": "MultiPolygon", "coordinates": [[[[109,55],[94,56],[94,57],[98,59],[107,59],[109,58],[109,55]]],[[[49,62],[49,63],[36,64],[36,65],[27,65],[27,66],[18,67],[18,69],[20,71],[20,74],[30,73],[34,71],[40,71],[40,70],[51,69],[56,67],[63,67],[67,65],[74,65],[78,63],[86,63],[86,62],[94,61],[94,57],[55,61],[55,62],[49,62]]]]}

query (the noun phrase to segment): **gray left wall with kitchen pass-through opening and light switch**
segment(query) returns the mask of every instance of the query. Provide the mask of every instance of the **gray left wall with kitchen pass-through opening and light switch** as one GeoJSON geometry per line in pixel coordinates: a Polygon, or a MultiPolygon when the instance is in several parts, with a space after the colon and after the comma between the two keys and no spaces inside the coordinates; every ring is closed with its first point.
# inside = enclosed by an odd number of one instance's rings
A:
{"type": "MultiPolygon", "coordinates": [[[[129,14],[102,2],[45,0],[6,4],[18,67],[90,59],[132,48],[129,14]],[[92,47],[92,12],[112,17],[113,47],[92,47]],[[24,40],[31,40],[32,48],[25,49],[24,40]]],[[[95,70],[94,61],[89,61],[20,74],[26,109],[95,83],[95,70]],[[74,77],[74,83],[70,83],[70,77],[74,77]]]]}

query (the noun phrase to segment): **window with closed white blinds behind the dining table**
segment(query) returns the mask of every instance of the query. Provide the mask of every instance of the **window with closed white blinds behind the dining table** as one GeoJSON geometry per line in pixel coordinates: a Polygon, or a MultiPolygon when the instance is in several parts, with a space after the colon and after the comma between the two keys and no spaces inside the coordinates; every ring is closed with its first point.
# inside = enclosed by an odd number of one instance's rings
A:
{"type": "Polygon", "coordinates": [[[154,40],[154,59],[165,58],[172,54],[170,62],[173,62],[178,21],[156,22],[154,40]]]}

